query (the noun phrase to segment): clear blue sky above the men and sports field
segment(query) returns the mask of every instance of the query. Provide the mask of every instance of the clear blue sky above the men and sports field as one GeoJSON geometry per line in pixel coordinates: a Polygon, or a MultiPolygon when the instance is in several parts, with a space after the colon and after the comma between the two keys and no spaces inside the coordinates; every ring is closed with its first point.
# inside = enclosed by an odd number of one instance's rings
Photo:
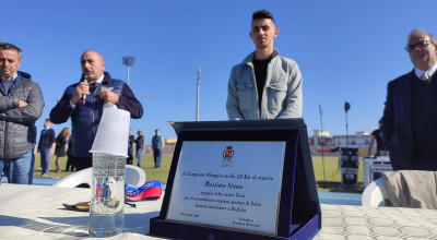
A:
{"type": "MultiPolygon", "coordinates": [[[[271,11],[280,28],[275,48],[294,59],[304,76],[304,111],[309,135],[320,129],[345,134],[373,131],[382,115],[387,83],[412,70],[403,50],[406,35],[422,27],[437,35],[437,1],[147,1],[0,0],[0,41],[23,49],[20,70],[33,75],[45,98],[38,131],[64,88],[81,75],[85,49],[103,53],[106,71],[127,79],[123,56],[134,56],[130,86],[144,116],[131,120],[147,142],[168,121],[196,120],[196,72],[201,67],[200,120],[226,120],[231,69],[255,47],[251,13],[271,11]]],[[[58,132],[70,122],[54,125],[58,132]]]]}

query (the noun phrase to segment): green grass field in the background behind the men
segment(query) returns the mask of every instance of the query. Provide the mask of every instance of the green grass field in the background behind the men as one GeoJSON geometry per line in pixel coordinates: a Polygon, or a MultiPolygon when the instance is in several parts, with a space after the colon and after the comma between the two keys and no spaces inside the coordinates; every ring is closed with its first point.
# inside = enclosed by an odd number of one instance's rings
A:
{"type": "MultiPolygon", "coordinates": [[[[163,160],[160,169],[154,169],[153,155],[143,155],[141,158],[142,168],[146,173],[146,181],[158,180],[162,183],[167,182],[168,171],[172,164],[172,155],[163,155],[163,160]]],[[[51,170],[48,178],[64,178],[66,176],[71,175],[71,171],[63,171],[66,169],[67,157],[61,158],[61,172],[55,172],[55,156],[51,156],[51,170]]],[[[133,160],[133,164],[137,165],[137,160],[133,160]]],[[[315,169],[315,176],[317,181],[318,191],[321,192],[362,192],[363,189],[361,187],[356,188],[340,188],[341,183],[341,172],[339,168],[339,158],[338,157],[312,157],[312,165],[315,169]],[[324,175],[323,175],[323,161],[324,161],[324,175]]],[[[34,177],[38,178],[42,173],[42,170],[38,169],[40,166],[39,154],[35,155],[35,171],[34,177]]],[[[358,185],[361,185],[363,180],[363,170],[362,165],[359,166],[358,172],[358,185]]]]}

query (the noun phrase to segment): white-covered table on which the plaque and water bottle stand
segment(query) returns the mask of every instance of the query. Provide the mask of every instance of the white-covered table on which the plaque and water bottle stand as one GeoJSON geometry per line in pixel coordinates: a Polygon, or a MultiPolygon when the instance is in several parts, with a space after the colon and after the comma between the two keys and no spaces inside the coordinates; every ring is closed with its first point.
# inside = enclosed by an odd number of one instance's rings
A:
{"type": "MultiPolygon", "coordinates": [[[[87,212],[62,203],[90,201],[90,189],[0,184],[0,239],[90,239],[87,212]]],[[[125,229],[108,239],[161,239],[149,233],[162,199],[125,206],[125,229]]],[[[437,211],[321,204],[322,239],[437,239],[437,211]]]]}

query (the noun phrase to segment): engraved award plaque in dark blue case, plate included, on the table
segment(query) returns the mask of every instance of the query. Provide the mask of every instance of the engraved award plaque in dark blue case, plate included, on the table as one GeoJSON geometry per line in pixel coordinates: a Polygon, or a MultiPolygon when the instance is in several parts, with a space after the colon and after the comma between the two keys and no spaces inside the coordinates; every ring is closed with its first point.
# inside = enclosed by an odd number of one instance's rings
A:
{"type": "Polygon", "coordinates": [[[320,230],[303,119],[170,124],[178,140],[152,236],[310,239],[320,230]]]}

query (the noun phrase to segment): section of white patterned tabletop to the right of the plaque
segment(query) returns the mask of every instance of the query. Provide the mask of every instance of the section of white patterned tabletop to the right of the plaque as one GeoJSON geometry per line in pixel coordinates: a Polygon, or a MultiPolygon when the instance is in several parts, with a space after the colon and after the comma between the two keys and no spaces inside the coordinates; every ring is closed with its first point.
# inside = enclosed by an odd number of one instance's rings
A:
{"type": "Polygon", "coordinates": [[[437,211],[321,205],[320,239],[437,239],[437,211]]]}

